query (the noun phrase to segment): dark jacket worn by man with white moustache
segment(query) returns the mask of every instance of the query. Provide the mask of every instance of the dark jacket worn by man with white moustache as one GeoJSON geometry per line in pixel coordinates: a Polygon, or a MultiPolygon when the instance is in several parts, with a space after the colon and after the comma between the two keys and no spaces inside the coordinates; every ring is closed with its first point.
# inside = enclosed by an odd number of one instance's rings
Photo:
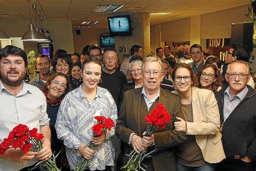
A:
{"type": "Polygon", "coordinates": [[[223,119],[224,92],[223,86],[215,97],[219,106],[222,128],[222,145],[226,158],[249,157],[256,160],[256,90],[247,85],[248,93],[234,108],[228,119],[223,119]]]}

